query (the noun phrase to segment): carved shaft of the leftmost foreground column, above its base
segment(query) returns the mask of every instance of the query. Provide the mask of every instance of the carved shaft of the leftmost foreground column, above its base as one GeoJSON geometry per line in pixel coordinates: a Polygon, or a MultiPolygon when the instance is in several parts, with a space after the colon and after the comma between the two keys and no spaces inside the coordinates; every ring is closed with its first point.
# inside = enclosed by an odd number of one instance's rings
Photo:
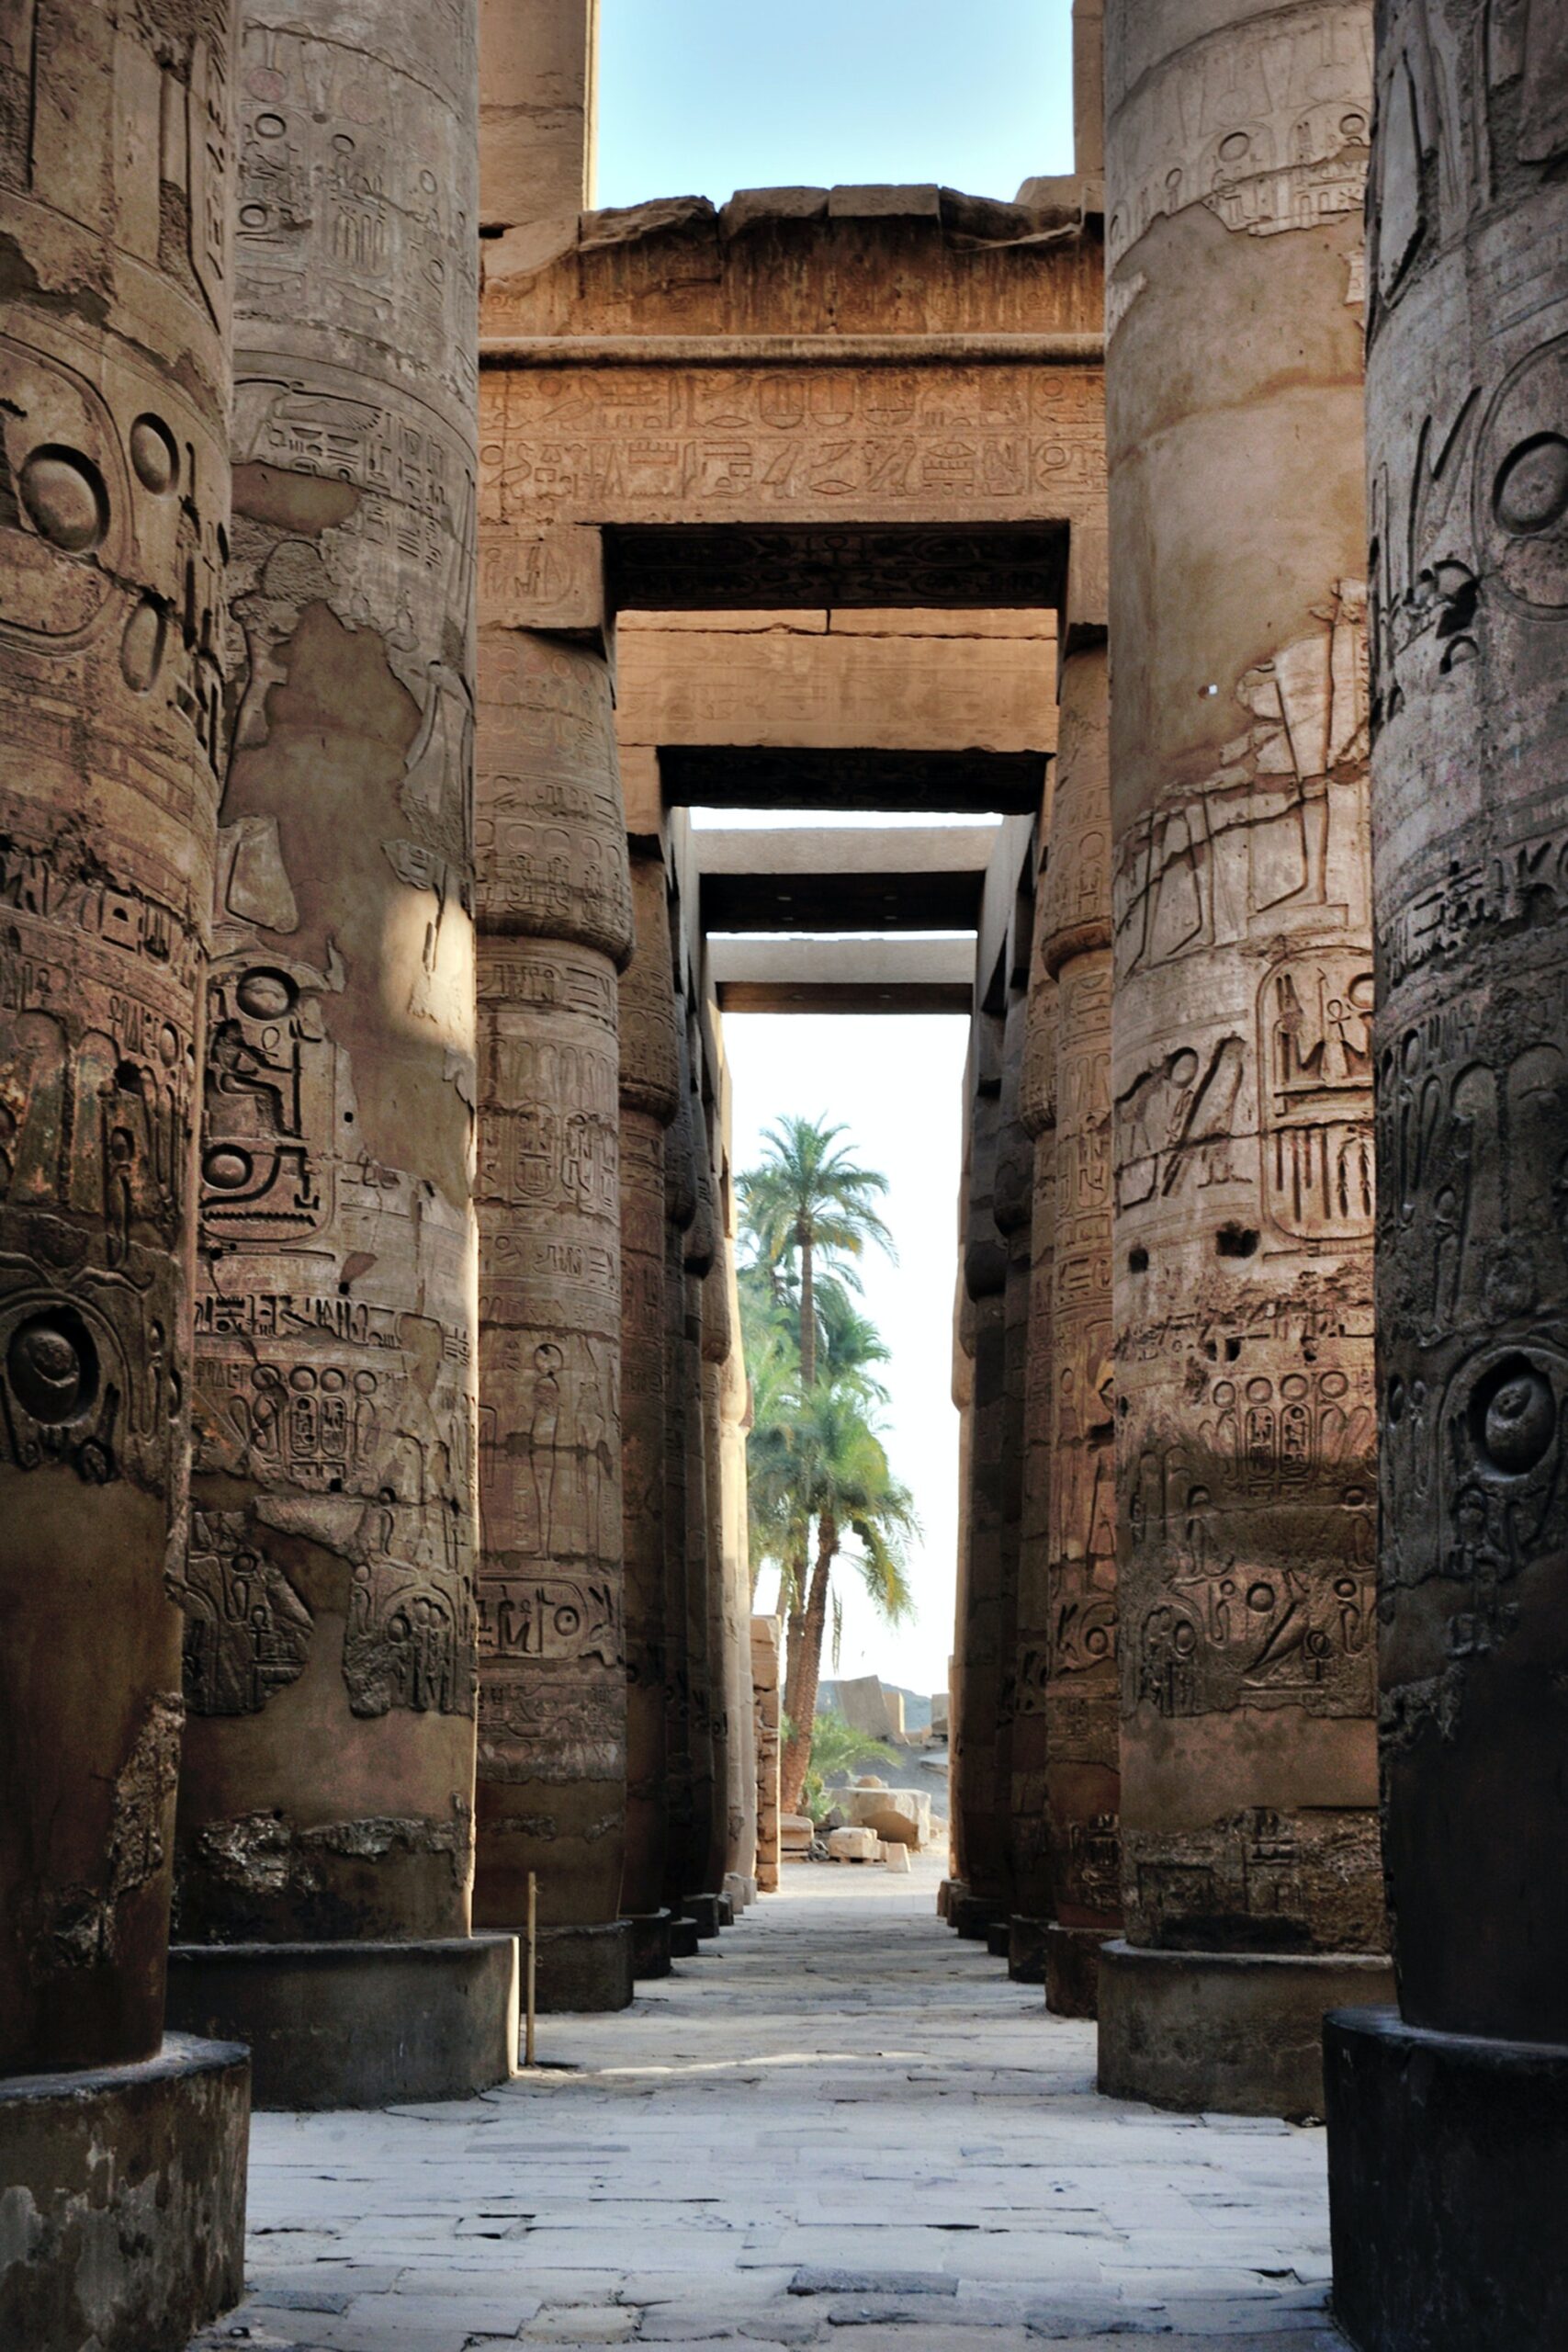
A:
{"type": "Polygon", "coordinates": [[[226,0],[0,9],[0,2072],[162,2034],[233,78],[226,0]]]}

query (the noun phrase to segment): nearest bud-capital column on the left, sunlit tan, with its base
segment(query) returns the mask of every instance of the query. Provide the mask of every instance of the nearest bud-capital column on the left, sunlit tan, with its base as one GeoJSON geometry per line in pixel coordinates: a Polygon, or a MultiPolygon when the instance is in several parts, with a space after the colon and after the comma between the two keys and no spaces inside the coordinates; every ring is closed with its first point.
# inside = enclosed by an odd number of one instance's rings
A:
{"type": "Polygon", "coordinates": [[[623,2009],[618,988],[632,896],[611,682],[487,628],[480,677],[480,1792],[475,1917],[538,1999],[623,2009]]]}

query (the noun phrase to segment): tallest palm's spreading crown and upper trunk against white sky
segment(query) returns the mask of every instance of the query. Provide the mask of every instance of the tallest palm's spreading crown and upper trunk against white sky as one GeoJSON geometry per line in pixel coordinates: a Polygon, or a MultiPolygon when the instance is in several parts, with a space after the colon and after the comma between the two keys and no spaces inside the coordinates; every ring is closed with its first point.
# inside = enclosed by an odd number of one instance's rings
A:
{"type": "Polygon", "coordinates": [[[858,1289],[853,1258],[879,1242],[896,1261],[893,1237],[875,1202],[886,1176],[858,1169],[839,1145],[844,1127],[823,1120],[780,1120],[764,1136],[769,1157],[741,1178],[741,1211],[757,1263],[788,1282],[799,1254],[799,1376],[816,1385],[818,1263],[858,1289]],[[846,1263],[849,1261],[849,1263],[846,1263]]]}

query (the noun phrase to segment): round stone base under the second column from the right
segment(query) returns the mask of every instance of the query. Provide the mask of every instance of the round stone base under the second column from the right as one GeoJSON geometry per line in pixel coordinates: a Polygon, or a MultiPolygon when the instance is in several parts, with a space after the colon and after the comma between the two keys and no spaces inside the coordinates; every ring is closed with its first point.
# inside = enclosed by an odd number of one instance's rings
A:
{"type": "Polygon", "coordinates": [[[1387,1999],[1375,1952],[1100,1945],[1100,2091],[1185,2114],[1324,2112],[1324,2013],[1387,1999]]]}

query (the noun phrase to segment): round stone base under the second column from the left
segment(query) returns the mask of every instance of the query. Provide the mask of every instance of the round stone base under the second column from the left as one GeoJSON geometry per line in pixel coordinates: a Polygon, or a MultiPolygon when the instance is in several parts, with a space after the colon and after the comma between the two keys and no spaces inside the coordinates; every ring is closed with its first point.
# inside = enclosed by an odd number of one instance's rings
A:
{"type": "Polygon", "coordinates": [[[169,2025],[252,2051],[256,2107],[473,2098],[517,2072],[517,1938],[181,1943],[169,2025]]]}

